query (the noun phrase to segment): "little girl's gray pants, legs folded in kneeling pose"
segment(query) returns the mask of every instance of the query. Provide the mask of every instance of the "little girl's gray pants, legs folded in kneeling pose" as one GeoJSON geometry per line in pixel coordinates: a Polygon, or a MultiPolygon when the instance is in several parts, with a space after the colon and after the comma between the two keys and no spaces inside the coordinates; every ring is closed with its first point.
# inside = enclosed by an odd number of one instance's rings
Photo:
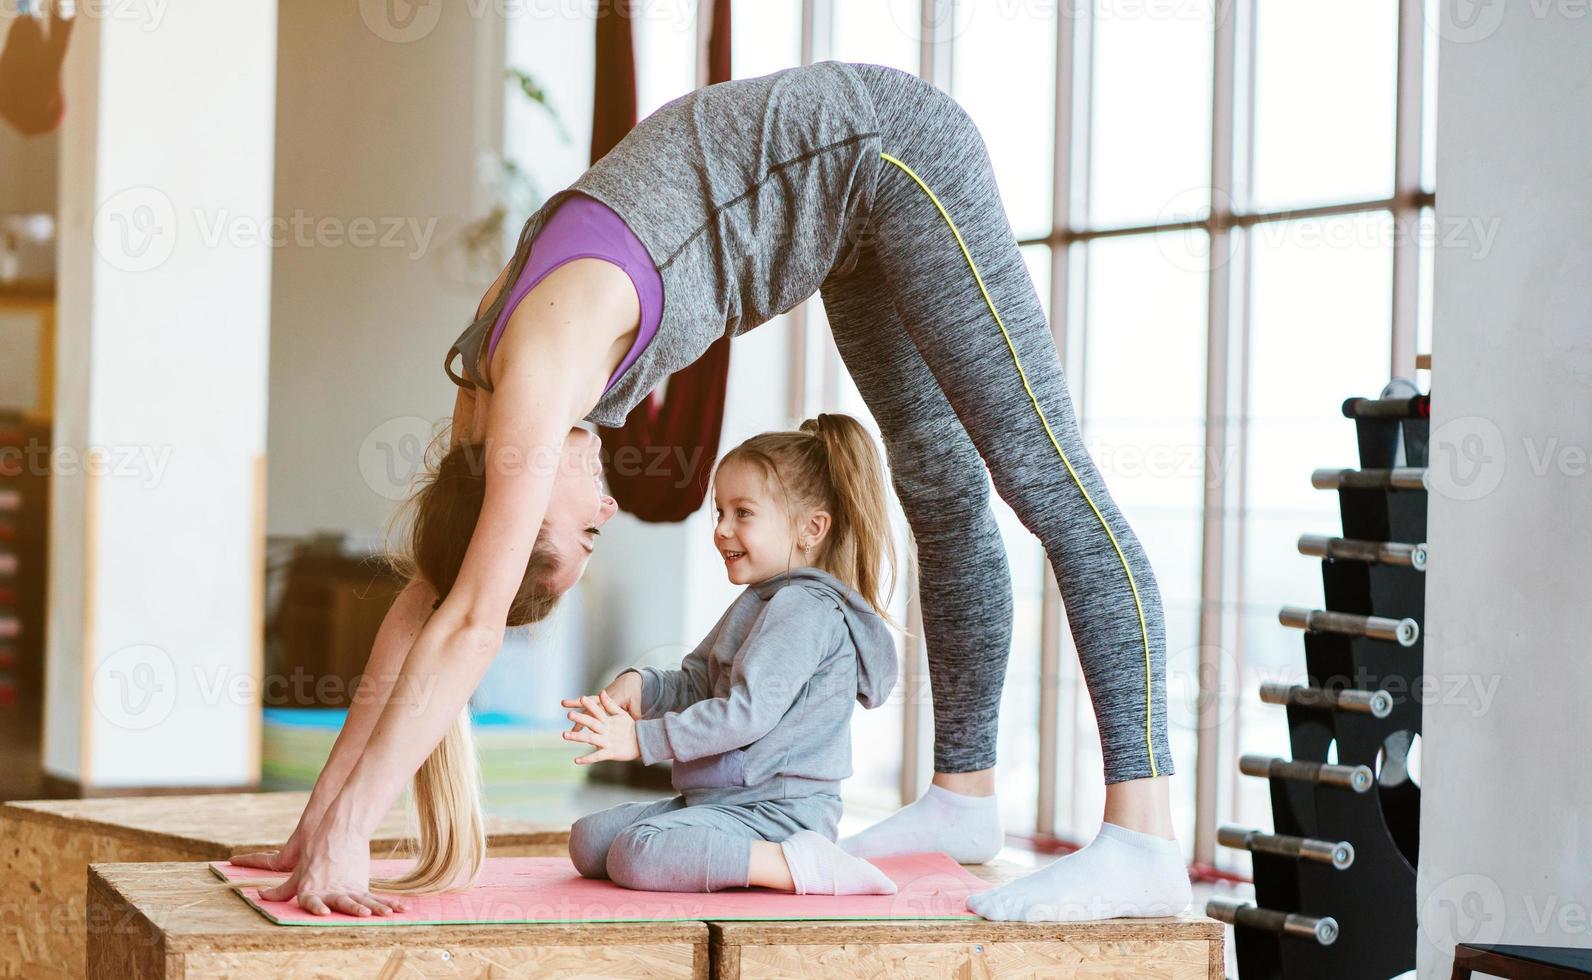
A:
{"type": "Polygon", "coordinates": [[[587,878],[643,891],[745,888],[753,840],[817,830],[834,840],[841,797],[696,803],[685,797],[619,803],[575,821],[570,861],[587,878]]]}

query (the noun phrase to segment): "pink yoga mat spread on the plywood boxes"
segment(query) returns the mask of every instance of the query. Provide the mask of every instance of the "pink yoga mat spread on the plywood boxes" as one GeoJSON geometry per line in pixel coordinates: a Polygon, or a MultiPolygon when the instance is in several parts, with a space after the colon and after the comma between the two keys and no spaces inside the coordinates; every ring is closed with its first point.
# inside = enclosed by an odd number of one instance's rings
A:
{"type": "MultiPolygon", "coordinates": [[[[630,891],[581,878],[568,858],[489,858],[474,888],[409,897],[398,915],[310,915],[298,902],[264,902],[258,889],[244,900],[279,926],[441,926],[463,923],[643,923],[677,920],[976,920],[968,896],[992,888],[946,854],[874,861],[896,883],[893,896],[793,896],[763,888],[710,894],[630,891]]],[[[396,875],[406,861],[373,861],[373,877],[396,875]]],[[[261,878],[269,872],[212,861],[221,878],[261,878]]],[[[377,892],[379,894],[379,892],[377,892]]]]}

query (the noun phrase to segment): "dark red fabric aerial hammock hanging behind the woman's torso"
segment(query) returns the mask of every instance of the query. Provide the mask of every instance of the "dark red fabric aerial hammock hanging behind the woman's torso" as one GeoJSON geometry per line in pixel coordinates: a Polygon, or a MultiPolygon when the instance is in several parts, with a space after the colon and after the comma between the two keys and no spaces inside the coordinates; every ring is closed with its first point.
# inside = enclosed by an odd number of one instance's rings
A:
{"type": "MultiPolygon", "coordinates": [[[[708,84],[729,81],[729,3],[708,0],[708,84]]],[[[635,127],[635,46],[629,3],[597,6],[597,92],[592,110],[592,161],[635,127]]],[[[659,398],[650,393],[619,428],[602,426],[608,490],[627,514],[662,523],[685,520],[707,498],[718,458],[729,380],[729,337],[713,342],[691,366],[669,377],[659,398]]]]}

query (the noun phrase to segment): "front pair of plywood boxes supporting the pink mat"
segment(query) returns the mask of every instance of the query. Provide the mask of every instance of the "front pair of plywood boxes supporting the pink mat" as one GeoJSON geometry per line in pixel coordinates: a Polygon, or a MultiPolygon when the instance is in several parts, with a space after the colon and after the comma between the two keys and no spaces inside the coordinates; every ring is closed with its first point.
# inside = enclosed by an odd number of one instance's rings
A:
{"type": "MultiPolygon", "coordinates": [[[[974,869],[1003,880],[1016,869],[974,869]]],[[[274,926],[204,864],[89,870],[88,977],[1091,977],[1218,980],[1202,915],[1067,924],[985,921],[274,926]]]]}

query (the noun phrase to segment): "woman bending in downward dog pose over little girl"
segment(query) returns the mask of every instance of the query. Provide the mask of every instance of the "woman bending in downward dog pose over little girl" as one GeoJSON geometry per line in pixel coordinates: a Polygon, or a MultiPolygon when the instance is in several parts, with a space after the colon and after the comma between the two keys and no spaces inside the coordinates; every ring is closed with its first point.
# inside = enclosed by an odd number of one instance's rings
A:
{"type": "Polygon", "coordinates": [[[1013,609],[987,466],[1067,601],[1100,724],[1106,822],[974,910],[1060,920],[1188,904],[1159,593],[1083,447],[984,142],[931,84],[841,62],[670,102],[525,223],[444,363],[462,387],[455,445],[417,500],[417,574],[373,651],[373,697],[350,713],[288,846],[252,858],[293,870],[267,897],[385,913],[366,846],[417,767],[430,837],[396,885],[446,883],[479,861],[479,815],[458,791],[460,713],[505,624],[546,616],[613,514],[595,442],[572,426],[622,423],[715,339],[814,291],[917,541],[936,732],[923,799],[844,846],[965,862],[1000,850],[995,725],[1013,609]]]}

